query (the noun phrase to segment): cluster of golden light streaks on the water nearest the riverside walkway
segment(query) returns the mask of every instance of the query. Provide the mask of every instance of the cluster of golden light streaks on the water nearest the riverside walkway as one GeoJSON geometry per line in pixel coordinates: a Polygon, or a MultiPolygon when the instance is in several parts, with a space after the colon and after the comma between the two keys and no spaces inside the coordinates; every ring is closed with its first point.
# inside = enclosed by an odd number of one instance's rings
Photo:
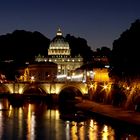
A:
{"type": "Polygon", "coordinates": [[[95,120],[86,122],[65,122],[66,140],[115,140],[114,130],[107,125],[100,126],[95,120]]]}

